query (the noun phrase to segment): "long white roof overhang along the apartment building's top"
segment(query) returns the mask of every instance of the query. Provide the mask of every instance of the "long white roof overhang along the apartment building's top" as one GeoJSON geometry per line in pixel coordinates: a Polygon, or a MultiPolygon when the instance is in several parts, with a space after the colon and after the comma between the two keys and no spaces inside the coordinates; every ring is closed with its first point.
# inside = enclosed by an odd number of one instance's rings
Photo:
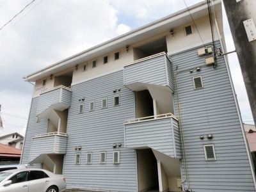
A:
{"type": "MultiPolygon", "coordinates": [[[[215,12],[221,10],[221,0],[214,1],[214,9],[212,10],[215,12]]],[[[92,60],[99,55],[115,51],[125,47],[126,45],[131,45],[134,42],[138,42],[150,36],[154,36],[182,24],[186,24],[187,22],[191,22],[191,17],[196,20],[204,17],[205,15],[208,15],[207,1],[190,6],[188,9],[186,8],[184,10],[180,10],[179,12],[173,13],[163,17],[162,19],[156,20],[155,22],[142,26],[141,28],[134,29],[128,33],[125,33],[124,35],[117,36],[116,38],[112,38],[111,40],[108,40],[102,44],[96,45],[83,52],[79,52],[78,54],[70,56],[65,60],[61,60],[53,65],[49,65],[49,67],[45,67],[42,70],[23,77],[24,81],[35,82],[38,79],[50,76],[52,73],[74,67],[75,65],[83,63],[84,61],[92,60]]]]}

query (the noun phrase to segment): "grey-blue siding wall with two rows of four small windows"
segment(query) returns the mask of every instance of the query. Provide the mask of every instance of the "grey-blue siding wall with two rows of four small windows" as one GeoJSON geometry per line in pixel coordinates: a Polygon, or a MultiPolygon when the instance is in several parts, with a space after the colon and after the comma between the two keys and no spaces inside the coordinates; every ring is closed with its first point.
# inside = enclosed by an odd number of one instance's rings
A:
{"type": "Polygon", "coordinates": [[[134,118],[134,93],[125,88],[122,70],[72,86],[63,169],[67,188],[137,191],[136,151],[124,148],[124,121],[128,118],[134,118]],[[120,92],[113,93],[119,88],[120,92]],[[116,95],[120,95],[120,106],[114,106],[116,95]],[[81,97],[85,98],[84,113],[79,114],[81,97]],[[104,98],[108,99],[106,109],[101,108],[104,98]],[[91,101],[94,111],[89,111],[91,101]],[[113,148],[113,143],[122,146],[113,148]],[[82,149],[75,150],[79,145],[82,149]],[[120,150],[120,164],[113,164],[116,150],[120,150]],[[100,151],[106,152],[106,164],[100,164],[100,151]],[[92,152],[92,164],[86,164],[87,152],[92,152]],[[81,154],[81,164],[75,164],[76,153],[81,154]]]}

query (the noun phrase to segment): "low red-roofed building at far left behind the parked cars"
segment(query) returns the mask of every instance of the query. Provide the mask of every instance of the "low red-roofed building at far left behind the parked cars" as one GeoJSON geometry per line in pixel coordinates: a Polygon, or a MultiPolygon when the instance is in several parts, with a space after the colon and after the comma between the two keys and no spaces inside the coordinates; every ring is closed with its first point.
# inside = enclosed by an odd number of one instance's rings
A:
{"type": "Polygon", "coordinates": [[[18,148],[10,147],[0,143],[0,165],[19,164],[21,151],[18,148]]]}

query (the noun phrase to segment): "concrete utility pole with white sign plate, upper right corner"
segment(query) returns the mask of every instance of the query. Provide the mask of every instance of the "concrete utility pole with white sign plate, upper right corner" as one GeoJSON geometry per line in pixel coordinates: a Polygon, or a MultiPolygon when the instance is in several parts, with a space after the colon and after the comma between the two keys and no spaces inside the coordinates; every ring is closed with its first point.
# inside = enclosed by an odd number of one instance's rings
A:
{"type": "Polygon", "coordinates": [[[256,125],[256,0],[223,0],[223,4],[256,125]]]}

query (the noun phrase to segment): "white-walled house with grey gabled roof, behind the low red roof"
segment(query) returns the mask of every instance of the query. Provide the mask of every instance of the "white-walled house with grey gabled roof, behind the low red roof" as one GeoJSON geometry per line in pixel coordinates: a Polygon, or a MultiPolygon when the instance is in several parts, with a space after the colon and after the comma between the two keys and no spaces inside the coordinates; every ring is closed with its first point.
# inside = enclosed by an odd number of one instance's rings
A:
{"type": "Polygon", "coordinates": [[[11,147],[22,149],[24,142],[24,137],[18,132],[13,132],[11,134],[6,134],[0,136],[0,143],[4,145],[9,145],[11,147]]]}

